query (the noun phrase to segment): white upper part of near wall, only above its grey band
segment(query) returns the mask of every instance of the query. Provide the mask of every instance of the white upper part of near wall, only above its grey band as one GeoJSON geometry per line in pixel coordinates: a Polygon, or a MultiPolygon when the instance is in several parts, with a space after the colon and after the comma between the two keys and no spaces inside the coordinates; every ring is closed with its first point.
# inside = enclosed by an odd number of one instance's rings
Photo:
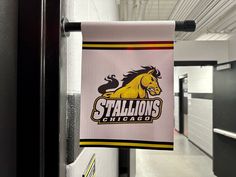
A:
{"type": "MultiPolygon", "coordinates": [[[[117,21],[115,0],[68,0],[69,21],[117,21]]],[[[68,93],[80,93],[81,87],[81,33],[70,33],[68,38],[68,93]]]]}

